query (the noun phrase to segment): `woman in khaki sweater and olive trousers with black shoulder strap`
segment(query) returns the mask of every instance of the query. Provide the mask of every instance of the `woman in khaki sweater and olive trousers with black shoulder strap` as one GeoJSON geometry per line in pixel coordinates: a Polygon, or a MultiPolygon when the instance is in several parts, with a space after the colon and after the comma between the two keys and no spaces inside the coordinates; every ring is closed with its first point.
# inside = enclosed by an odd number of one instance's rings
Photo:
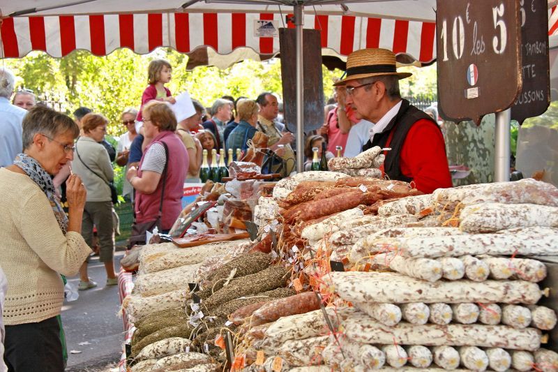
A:
{"type": "MultiPolygon", "coordinates": [[[[82,119],[83,135],[75,144],[75,158],[72,164],[75,174],[82,177],[87,189],[87,200],[83,214],[82,235],[91,246],[93,225],[97,228],[99,239],[99,261],[105,264],[107,285],[116,285],[118,280],[114,274],[114,228],[112,224],[112,198],[109,182],[114,179],[114,171],[110,158],[99,142],[107,133],[107,118],[101,114],[86,114],[82,119]]],[[[87,263],[80,269],[80,285],[78,290],[88,290],[97,283],[87,276],[87,263]]]]}

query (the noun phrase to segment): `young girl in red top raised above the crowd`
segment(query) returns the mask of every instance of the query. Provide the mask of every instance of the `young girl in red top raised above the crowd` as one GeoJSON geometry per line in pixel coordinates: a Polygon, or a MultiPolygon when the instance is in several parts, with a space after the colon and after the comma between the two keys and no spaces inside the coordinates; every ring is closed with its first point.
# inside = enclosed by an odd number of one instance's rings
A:
{"type": "Polygon", "coordinates": [[[149,101],[176,102],[169,89],[165,87],[165,84],[170,81],[171,77],[172,67],[165,59],[153,59],[153,61],[149,62],[149,67],[147,68],[149,85],[144,90],[144,94],[142,94],[142,106],[140,107],[140,112],[137,113],[137,121],[143,121],[142,108],[149,101]]]}

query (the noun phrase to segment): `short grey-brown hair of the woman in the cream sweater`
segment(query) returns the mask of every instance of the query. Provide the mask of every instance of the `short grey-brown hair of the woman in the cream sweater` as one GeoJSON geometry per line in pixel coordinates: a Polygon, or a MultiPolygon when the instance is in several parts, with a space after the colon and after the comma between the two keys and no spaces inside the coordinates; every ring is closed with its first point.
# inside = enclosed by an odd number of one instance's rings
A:
{"type": "Polygon", "coordinates": [[[74,138],[80,135],[80,127],[72,118],[43,105],[36,105],[27,112],[23,118],[22,129],[24,150],[33,144],[33,137],[37,133],[51,138],[61,133],[70,133],[74,138]]]}

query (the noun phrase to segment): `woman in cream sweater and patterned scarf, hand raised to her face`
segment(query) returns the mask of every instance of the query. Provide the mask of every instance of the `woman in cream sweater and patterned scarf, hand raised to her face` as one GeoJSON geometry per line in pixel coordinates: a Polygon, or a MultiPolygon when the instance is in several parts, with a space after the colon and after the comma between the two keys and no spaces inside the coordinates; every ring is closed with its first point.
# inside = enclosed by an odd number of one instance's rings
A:
{"type": "Polygon", "coordinates": [[[66,181],[66,216],[51,176],[73,159],[80,128],[39,106],[29,110],[22,131],[23,153],[0,169],[0,266],[8,278],[3,358],[9,371],[61,372],[60,274],[75,275],[91,249],[81,235],[82,179],[72,174],[66,181]]]}

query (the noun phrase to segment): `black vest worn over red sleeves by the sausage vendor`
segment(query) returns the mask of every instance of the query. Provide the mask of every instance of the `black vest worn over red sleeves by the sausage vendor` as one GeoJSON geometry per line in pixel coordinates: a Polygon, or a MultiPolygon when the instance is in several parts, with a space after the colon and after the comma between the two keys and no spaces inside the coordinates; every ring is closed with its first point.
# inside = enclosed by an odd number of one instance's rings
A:
{"type": "Polygon", "coordinates": [[[362,150],[368,150],[372,147],[379,146],[379,147],[386,147],[386,142],[391,132],[393,132],[393,137],[391,138],[391,142],[389,143],[389,147],[391,148],[390,151],[387,151],[386,160],[384,161],[384,172],[388,175],[389,179],[397,179],[398,181],[405,181],[410,182],[412,178],[409,178],[402,174],[400,168],[400,158],[401,158],[401,149],[403,147],[403,143],[405,143],[405,138],[407,137],[407,133],[411,127],[416,123],[416,121],[420,119],[427,119],[438,128],[438,124],[425,114],[423,111],[418,110],[418,108],[414,107],[409,103],[407,100],[402,100],[401,107],[398,113],[391,119],[388,126],[384,129],[382,133],[376,133],[374,135],[374,142],[366,142],[362,147],[362,150]]]}

